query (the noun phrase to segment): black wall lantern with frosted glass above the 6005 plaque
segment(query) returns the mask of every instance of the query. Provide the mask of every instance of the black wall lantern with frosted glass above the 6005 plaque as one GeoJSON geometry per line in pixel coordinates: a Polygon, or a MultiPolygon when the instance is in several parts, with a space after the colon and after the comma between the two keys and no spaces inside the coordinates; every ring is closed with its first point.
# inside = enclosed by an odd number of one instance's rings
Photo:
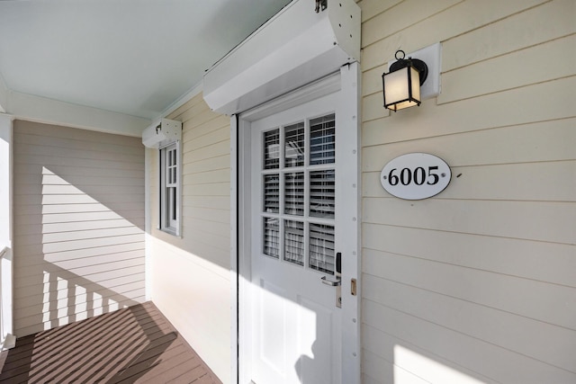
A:
{"type": "Polygon", "coordinates": [[[420,85],[428,77],[428,66],[424,61],[405,56],[403,50],[396,51],[397,61],[390,66],[390,72],[382,75],[384,108],[394,112],[420,105],[420,85]]]}

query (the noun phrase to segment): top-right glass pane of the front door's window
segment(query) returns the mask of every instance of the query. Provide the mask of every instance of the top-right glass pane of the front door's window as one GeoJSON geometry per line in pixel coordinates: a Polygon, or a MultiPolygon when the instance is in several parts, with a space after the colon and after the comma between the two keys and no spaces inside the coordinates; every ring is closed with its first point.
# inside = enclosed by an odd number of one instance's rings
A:
{"type": "Polygon", "coordinates": [[[331,164],[336,154],[334,113],[310,121],[310,165],[331,164]]]}

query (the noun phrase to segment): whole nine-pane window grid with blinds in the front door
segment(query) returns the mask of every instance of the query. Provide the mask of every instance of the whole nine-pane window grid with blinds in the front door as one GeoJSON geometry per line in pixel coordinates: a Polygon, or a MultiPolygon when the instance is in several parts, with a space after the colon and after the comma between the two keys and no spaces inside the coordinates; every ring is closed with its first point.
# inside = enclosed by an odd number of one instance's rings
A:
{"type": "Polygon", "coordinates": [[[329,274],[335,272],[335,123],[331,113],[263,134],[263,209],[274,216],[263,218],[264,254],[329,274]],[[266,171],[272,169],[279,174],[266,171]]]}

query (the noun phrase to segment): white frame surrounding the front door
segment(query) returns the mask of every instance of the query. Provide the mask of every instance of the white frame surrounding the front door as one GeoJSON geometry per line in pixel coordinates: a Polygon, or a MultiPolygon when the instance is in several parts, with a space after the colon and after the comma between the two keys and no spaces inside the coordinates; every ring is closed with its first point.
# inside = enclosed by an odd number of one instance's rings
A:
{"type": "Polygon", "coordinates": [[[233,382],[247,384],[249,367],[247,356],[250,344],[245,343],[249,327],[249,299],[247,288],[250,284],[250,215],[243,215],[249,207],[250,197],[250,121],[256,121],[275,112],[306,103],[324,94],[341,90],[338,98],[338,124],[347,126],[346,137],[338,138],[338,145],[346,146],[346,158],[338,165],[338,172],[354,174],[356,183],[344,187],[346,206],[345,216],[356,228],[346,236],[347,242],[341,252],[342,258],[342,381],[347,384],[360,383],[360,302],[362,298],[360,269],[360,68],[358,63],[341,67],[339,73],[324,77],[311,85],[306,85],[263,106],[256,107],[230,119],[231,141],[231,190],[230,190],[230,240],[231,240],[231,377],[233,382]],[[356,296],[351,294],[353,280],[356,280],[356,296]],[[241,311],[238,309],[242,308],[241,311]]]}

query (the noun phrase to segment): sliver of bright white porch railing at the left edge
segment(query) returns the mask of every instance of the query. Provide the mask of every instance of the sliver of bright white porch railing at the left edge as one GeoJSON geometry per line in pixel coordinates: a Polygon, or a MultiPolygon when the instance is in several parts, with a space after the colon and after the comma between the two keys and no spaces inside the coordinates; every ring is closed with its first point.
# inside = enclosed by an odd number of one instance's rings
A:
{"type": "Polygon", "coordinates": [[[12,252],[4,246],[0,249],[0,351],[16,344],[12,318],[12,252]]]}

